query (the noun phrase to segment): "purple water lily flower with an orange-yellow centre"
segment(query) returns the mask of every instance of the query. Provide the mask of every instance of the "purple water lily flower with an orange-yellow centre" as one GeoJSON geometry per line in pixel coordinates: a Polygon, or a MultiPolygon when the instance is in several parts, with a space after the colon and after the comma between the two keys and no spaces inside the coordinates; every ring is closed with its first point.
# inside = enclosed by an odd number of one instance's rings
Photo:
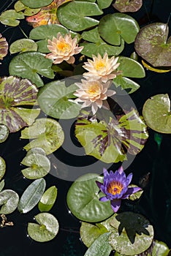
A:
{"type": "Polygon", "coordinates": [[[129,195],[141,190],[140,187],[129,187],[129,184],[132,181],[132,173],[129,173],[129,176],[126,177],[126,174],[123,172],[123,167],[120,167],[115,173],[113,173],[112,170],[108,173],[104,168],[103,173],[103,184],[96,181],[99,189],[105,194],[105,196],[99,198],[99,200],[102,202],[110,200],[114,212],[118,211],[122,199],[126,199],[129,195]]]}

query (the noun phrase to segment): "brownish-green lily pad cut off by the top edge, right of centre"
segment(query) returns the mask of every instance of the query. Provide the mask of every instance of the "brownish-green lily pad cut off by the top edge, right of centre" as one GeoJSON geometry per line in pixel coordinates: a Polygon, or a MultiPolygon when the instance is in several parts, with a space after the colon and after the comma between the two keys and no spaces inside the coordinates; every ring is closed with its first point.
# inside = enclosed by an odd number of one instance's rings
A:
{"type": "Polygon", "coordinates": [[[142,0],[116,0],[113,7],[119,12],[137,12],[142,7],[142,0]]]}

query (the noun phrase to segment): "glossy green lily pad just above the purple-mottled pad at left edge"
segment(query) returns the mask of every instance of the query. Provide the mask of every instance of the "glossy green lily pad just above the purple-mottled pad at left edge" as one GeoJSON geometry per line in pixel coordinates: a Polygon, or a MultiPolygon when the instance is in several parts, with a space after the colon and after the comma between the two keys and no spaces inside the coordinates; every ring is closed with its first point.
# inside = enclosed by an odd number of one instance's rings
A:
{"type": "Polygon", "coordinates": [[[45,54],[37,52],[20,53],[9,63],[9,74],[28,78],[37,87],[41,87],[44,83],[39,75],[43,75],[45,78],[54,78],[55,76],[51,69],[52,64],[53,61],[46,59],[45,54]]]}

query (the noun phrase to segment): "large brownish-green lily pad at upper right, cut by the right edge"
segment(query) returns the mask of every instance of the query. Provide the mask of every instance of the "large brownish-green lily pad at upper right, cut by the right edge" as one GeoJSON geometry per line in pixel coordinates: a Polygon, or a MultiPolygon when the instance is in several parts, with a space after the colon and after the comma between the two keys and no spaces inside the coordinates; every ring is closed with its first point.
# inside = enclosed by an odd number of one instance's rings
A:
{"type": "Polygon", "coordinates": [[[171,37],[167,40],[168,34],[169,27],[165,23],[143,26],[134,42],[137,54],[153,67],[170,67],[171,37]]]}

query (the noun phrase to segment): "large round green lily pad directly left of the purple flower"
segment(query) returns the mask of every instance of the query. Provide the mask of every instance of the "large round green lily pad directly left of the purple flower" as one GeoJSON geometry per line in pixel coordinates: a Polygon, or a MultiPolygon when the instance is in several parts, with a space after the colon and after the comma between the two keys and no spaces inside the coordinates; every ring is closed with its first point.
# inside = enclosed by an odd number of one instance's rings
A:
{"type": "Polygon", "coordinates": [[[69,188],[66,196],[67,205],[77,219],[84,222],[100,222],[113,214],[110,201],[102,203],[99,198],[104,195],[99,193],[95,181],[101,181],[95,173],[88,173],[77,180],[69,188]]]}

